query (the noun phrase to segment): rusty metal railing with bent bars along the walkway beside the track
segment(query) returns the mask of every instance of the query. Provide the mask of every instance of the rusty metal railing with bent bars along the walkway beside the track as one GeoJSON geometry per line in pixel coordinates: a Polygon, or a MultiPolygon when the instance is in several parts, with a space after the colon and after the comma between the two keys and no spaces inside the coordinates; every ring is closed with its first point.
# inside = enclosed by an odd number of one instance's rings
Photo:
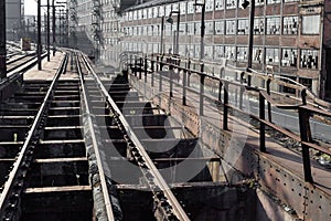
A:
{"type": "MultiPolygon", "coordinates": [[[[301,156],[302,156],[302,164],[303,164],[303,175],[305,180],[308,182],[313,182],[312,176],[311,176],[311,166],[310,166],[310,151],[309,149],[314,149],[320,152],[331,155],[331,148],[325,146],[319,146],[312,138],[311,138],[311,129],[310,129],[310,118],[313,115],[319,115],[323,117],[331,117],[331,113],[328,112],[328,108],[330,107],[330,104],[323,101],[320,101],[316,96],[313,96],[312,93],[310,93],[306,86],[299,84],[299,83],[288,83],[284,81],[282,76],[275,76],[271,74],[260,74],[257,72],[246,72],[242,70],[236,70],[234,67],[228,67],[226,64],[220,65],[220,76],[216,76],[213,73],[204,72],[204,62],[200,62],[199,65],[192,69],[193,61],[192,60],[185,60],[183,62],[182,57],[178,56],[167,56],[164,54],[162,55],[156,55],[151,57],[147,56],[139,56],[137,54],[132,55],[129,54],[127,61],[127,67],[131,70],[132,74],[138,77],[139,80],[142,78],[142,74],[145,76],[145,82],[147,82],[147,76],[150,74],[151,77],[151,86],[154,86],[154,78],[157,74],[160,71],[167,70],[169,72],[168,74],[168,82],[169,82],[169,97],[173,96],[173,74],[174,70],[177,70],[177,74],[182,74],[182,104],[186,105],[186,94],[188,91],[194,92],[199,94],[200,96],[200,103],[199,103],[199,113],[202,116],[203,113],[203,106],[204,106],[204,98],[210,98],[204,93],[205,90],[205,80],[210,78],[218,84],[218,95],[217,99],[215,99],[215,103],[217,103],[220,106],[223,106],[223,129],[228,129],[228,115],[229,109],[236,110],[242,114],[247,114],[242,109],[243,104],[243,92],[254,92],[257,93],[258,96],[258,110],[259,115],[249,114],[248,115],[252,118],[255,118],[259,122],[259,149],[260,151],[266,151],[266,126],[275,129],[278,133],[284,134],[285,136],[292,138],[293,140],[297,140],[301,144],[301,156]],[[200,69],[199,69],[200,67],[200,69]],[[239,76],[239,81],[231,81],[222,77],[222,71],[226,69],[232,69],[235,71],[235,73],[239,76]],[[199,92],[196,90],[193,90],[190,87],[190,76],[192,74],[196,74],[200,80],[200,88],[199,92]],[[248,85],[245,83],[245,77],[252,76],[260,78],[264,83],[264,87],[257,86],[257,85],[248,85]],[[280,94],[278,92],[274,92],[270,90],[270,85],[277,84],[277,85],[284,85],[287,87],[295,88],[299,92],[300,97],[291,97],[288,95],[280,94]],[[228,94],[228,86],[236,86],[239,88],[239,107],[236,107],[234,105],[229,104],[229,94],[228,94]],[[223,94],[223,96],[222,96],[223,94]],[[273,99],[273,95],[282,96],[285,98],[290,98],[293,101],[293,104],[278,104],[273,99]],[[310,102],[308,102],[308,96],[310,98],[310,102]],[[265,117],[265,105],[267,103],[267,113],[268,113],[268,119],[265,117]],[[322,105],[323,107],[321,107],[322,105]],[[271,120],[271,106],[280,108],[280,109],[292,109],[297,110],[298,118],[299,118],[299,135],[289,131],[288,129],[280,127],[273,123],[271,120]]],[[[159,91],[162,92],[162,85],[164,85],[164,81],[162,81],[164,76],[162,74],[159,74],[159,91]]]]}

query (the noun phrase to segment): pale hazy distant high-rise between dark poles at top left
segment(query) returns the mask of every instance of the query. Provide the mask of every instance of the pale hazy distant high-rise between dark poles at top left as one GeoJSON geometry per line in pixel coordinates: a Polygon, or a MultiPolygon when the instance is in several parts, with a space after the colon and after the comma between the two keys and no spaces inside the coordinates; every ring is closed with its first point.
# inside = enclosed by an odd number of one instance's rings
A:
{"type": "Polygon", "coordinates": [[[6,0],[7,40],[19,40],[22,34],[24,0],[6,0]]]}

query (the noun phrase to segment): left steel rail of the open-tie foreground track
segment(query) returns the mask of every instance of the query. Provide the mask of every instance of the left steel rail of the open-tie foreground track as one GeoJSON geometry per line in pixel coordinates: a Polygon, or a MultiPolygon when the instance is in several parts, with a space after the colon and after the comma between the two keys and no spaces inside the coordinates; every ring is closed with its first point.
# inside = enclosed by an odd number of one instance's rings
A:
{"type": "Polygon", "coordinates": [[[41,107],[39,108],[38,114],[34,117],[33,124],[28,131],[26,139],[24,140],[24,144],[18,154],[15,161],[13,164],[12,170],[9,173],[8,180],[3,185],[3,190],[0,194],[0,218],[1,220],[7,219],[11,215],[11,212],[14,211],[15,204],[13,202],[10,202],[10,198],[14,197],[14,199],[18,201],[19,196],[23,188],[23,178],[25,177],[26,170],[29,168],[29,165],[32,160],[33,155],[33,145],[38,143],[39,139],[39,129],[41,125],[41,119],[44,117],[44,114],[46,109],[49,108],[49,105],[51,104],[51,99],[54,95],[54,88],[56,86],[57,80],[60,75],[63,73],[65,65],[67,63],[67,55],[62,60],[61,66],[57,70],[50,88],[45,95],[45,98],[43,99],[43,103],[41,107]],[[15,186],[19,187],[14,189],[15,186]],[[9,210],[9,211],[8,211],[9,210]],[[7,212],[9,214],[7,214],[7,212]]]}

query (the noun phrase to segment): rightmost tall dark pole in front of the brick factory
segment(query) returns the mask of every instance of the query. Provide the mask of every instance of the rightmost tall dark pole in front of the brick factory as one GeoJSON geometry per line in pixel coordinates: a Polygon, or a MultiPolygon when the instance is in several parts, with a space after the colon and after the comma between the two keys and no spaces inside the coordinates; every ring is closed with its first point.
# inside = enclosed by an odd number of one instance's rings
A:
{"type": "MultiPolygon", "coordinates": [[[[253,61],[253,43],[254,43],[254,13],[255,0],[250,0],[249,6],[249,32],[248,32],[248,57],[247,57],[247,72],[250,72],[253,61]]],[[[248,75],[247,85],[250,86],[252,76],[248,75]]]]}

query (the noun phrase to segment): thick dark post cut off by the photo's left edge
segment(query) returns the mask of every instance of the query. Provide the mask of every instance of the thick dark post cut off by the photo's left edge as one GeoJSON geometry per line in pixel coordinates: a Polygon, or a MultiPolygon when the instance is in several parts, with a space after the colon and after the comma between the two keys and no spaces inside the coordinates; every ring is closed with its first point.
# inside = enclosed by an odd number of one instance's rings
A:
{"type": "Polygon", "coordinates": [[[6,1],[0,1],[0,80],[7,77],[6,64],[6,1]]]}

